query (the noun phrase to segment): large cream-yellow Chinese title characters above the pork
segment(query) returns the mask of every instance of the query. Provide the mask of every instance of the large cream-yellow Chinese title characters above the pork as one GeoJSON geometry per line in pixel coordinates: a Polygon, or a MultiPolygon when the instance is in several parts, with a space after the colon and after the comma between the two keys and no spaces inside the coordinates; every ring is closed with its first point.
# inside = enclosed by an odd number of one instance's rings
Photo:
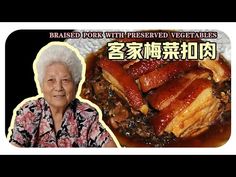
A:
{"type": "Polygon", "coordinates": [[[123,59],[216,59],[215,42],[109,42],[108,58],[123,59]]]}

